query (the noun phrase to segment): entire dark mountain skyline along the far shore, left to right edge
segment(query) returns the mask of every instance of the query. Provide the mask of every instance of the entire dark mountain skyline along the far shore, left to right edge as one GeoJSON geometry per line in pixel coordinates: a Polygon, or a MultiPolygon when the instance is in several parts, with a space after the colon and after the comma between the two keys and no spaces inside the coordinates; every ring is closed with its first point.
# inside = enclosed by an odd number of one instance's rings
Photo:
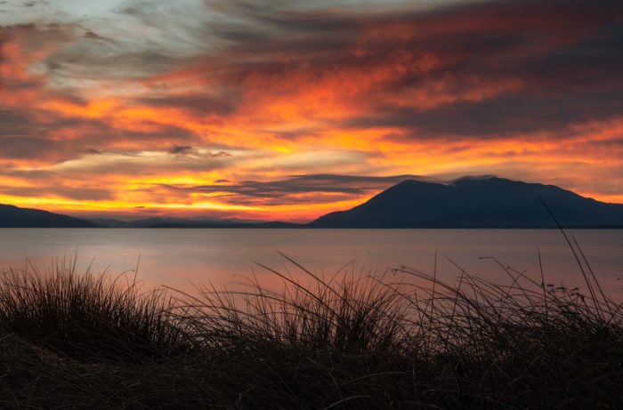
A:
{"type": "Polygon", "coordinates": [[[623,228],[623,204],[609,204],[555,185],[492,175],[451,181],[401,181],[351,209],[309,223],[156,217],[85,220],[0,205],[4,228],[555,228],[545,203],[566,228],[623,228]],[[542,201],[542,202],[541,202],[542,201]]]}

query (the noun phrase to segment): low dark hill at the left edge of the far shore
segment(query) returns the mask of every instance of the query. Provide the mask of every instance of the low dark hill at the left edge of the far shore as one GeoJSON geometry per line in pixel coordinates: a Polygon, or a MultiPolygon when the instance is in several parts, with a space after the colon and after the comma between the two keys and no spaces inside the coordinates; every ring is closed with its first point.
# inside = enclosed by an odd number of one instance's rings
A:
{"type": "Polygon", "coordinates": [[[39,209],[0,204],[0,228],[97,228],[92,221],[39,209]]]}

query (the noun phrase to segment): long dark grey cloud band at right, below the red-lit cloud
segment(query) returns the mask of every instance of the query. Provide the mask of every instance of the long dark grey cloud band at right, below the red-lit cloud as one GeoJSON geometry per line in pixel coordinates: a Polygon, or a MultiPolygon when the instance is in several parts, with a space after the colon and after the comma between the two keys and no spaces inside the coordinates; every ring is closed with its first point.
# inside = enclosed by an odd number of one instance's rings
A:
{"type": "MultiPolygon", "coordinates": [[[[349,118],[340,126],[399,127],[408,139],[492,140],[548,133],[551,140],[574,136],[569,125],[604,121],[623,113],[623,90],[568,92],[561,95],[499,96],[479,102],[461,101],[423,112],[418,109],[377,107],[374,116],[349,118]],[[409,131],[412,130],[412,131],[409,131]]],[[[395,135],[393,136],[395,137],[395,135]]]]}

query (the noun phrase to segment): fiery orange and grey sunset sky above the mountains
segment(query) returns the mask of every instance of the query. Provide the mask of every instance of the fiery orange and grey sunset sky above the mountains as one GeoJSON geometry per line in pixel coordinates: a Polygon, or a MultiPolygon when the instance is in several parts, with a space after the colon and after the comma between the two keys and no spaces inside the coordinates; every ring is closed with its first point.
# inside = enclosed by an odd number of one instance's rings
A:
{"type": "Polygon", "coordinates": [[[623,2],[0,0],[0,203],[310,221],[414,176],[623,203],[623,2]]]}

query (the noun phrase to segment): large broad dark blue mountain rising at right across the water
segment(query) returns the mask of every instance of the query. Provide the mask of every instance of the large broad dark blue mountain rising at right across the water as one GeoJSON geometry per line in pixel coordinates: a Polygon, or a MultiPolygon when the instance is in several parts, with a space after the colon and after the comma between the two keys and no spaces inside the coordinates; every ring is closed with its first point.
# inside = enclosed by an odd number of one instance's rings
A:
{"type": "Polygon", "coordinates": [[[328,213],[310,228],[621,227],[623,205],[580,197],[553,185],[493,176],[447,183],[402,181],[348,211],[328,213]]]}

